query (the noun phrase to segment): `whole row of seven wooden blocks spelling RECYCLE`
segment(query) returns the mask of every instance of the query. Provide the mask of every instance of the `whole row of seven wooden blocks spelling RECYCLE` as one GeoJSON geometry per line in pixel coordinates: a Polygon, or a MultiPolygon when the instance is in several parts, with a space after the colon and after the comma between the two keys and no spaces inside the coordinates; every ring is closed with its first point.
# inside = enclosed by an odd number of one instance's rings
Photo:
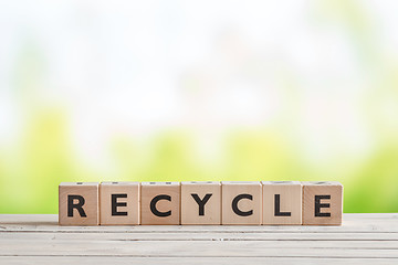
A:
{"type": "Polygon", "coordinates": [[[63,182],[60,225],[341,225],[339,182],[63,182]]]}

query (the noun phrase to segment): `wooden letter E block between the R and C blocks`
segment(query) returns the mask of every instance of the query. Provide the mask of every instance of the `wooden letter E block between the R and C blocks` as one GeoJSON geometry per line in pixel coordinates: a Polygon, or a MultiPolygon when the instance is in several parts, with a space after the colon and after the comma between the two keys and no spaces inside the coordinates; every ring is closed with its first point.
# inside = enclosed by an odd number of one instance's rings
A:
{"type": "Polygon", "coordinates": [[[100,224],[139,224],[139,182],[100,184],[100,224]]]}

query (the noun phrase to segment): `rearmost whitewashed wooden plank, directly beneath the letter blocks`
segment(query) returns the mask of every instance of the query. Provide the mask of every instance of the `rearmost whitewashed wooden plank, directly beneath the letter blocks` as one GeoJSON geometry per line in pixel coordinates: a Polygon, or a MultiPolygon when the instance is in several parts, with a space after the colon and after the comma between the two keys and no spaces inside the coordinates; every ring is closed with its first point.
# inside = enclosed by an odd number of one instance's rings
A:
{"type": "Polygon", "coordinates": [[[130,225],[130,226],[59,226],[55,214],[3,214],[0,215],[0,233],[3,231],[52,231],[84,233],[398,233],[398,213],[344,214],[342,226],[305,226],[305,225],[130,225]]]}

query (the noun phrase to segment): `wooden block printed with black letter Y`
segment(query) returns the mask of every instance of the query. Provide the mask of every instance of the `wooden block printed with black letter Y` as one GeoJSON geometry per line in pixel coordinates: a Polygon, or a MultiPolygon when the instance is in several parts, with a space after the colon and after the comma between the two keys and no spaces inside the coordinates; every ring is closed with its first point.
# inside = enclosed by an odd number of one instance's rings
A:
{"type": "Polygon", "coordinates": [[[181,182],[181,224],[221,224],[220,182],[181,182]]]}

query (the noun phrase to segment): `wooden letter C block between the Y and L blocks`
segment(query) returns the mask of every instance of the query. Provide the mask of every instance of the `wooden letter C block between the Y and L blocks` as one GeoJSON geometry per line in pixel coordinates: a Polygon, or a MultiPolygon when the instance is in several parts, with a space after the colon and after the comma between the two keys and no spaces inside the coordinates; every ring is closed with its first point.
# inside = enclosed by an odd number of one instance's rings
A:
{"type": "Polygon", "coordinates": [[[260,181],[222,181],[222,224],[261,224],[260,181]]]}

